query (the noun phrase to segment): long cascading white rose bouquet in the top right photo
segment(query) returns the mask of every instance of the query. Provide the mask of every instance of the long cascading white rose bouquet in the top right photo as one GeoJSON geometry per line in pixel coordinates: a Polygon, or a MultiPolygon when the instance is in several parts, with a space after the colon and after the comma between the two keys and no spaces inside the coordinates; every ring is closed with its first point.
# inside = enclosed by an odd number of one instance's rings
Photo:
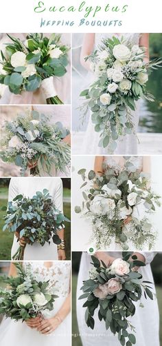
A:
{"type": "Polygon", "coordinates": [[[161,67],[161,60],[145,63],[145,48],[132,45],[124,38],[104,39],[93,54],[91,62],[95,81],[81,92],[86,98],[82,105],[82,121],[90,109],[95,132],[100,133],[99,147],[110,153],[117,147],[117,139],[135,132],[131,110],[141,97],[154,101],[146,88],[148,72],[161,67]]]}

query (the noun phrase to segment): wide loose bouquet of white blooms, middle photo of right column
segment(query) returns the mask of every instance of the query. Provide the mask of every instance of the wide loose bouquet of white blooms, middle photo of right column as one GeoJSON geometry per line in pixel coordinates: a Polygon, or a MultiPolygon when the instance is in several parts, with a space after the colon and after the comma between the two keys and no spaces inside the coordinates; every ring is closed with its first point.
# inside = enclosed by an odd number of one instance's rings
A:
{"type": "Polygon", "coordinates": [[[81,187],[89,182],[90,188],[82,192],[82,208],[76,206],[75,212],[90,221],[91,243],[97,250],[108,248],[114,239],[122,250],[129,249],[128,241],[132,248],[151,250],[157,237],[148,215],[161,205],[161,197],[148,187],[146,174],[139,172],[128,156],[124,158],[121,171],[106,165],[101,175],[93,170],[88,177],[86,170],[78,172],[84,181],[81,187]]]}

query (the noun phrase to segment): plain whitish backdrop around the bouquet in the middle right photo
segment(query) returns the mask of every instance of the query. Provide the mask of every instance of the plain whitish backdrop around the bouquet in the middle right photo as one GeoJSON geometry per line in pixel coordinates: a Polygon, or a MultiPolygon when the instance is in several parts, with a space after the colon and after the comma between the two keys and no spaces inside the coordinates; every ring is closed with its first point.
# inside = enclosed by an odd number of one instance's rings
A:
{"type": "MultiPolygon", "coordinates": [[[[87,172],[93,170],[95,156],[73,156],[73,173],[72,173],[72,250],[73,251],[86,251],[89,247],[89,231],[87,221],[80,218],[80,214],[74,212],[76,205],[82,205],[83,197],[82,191],[87,187],[80,189],[83,181],[81,176],[78,175],[78,170],[86,168],[87,172]]],[[[151,185],[152,190],[162,196],[162,179],[161,179],[162,156],[151,156],[151,185]]],[[[161,199],[162,203],[162,199],[161,199]]],[[[155,250],[162,251],[162,225],[161,225],[162,205],[157,207],[156,214],[151,215],[152,225],[159,233],[155,250]]]]}

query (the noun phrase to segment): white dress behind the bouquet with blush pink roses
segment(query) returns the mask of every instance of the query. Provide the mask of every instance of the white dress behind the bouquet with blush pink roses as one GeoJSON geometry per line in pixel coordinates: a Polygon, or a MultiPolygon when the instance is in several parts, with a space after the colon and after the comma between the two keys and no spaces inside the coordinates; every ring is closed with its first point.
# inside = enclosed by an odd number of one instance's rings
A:
{"type": "MultiPolygon", "coordinates": [[[[109,252],[110,256],[115,258],[122,257],[121,252],[109,252]]],[[[146,267],[141,267],[139,272],[141,272],[143,276],[143,281],[151,281],[154,282],[152,271],[150,268],[150,263],[155,256],[154,252],[141,252],[143,256],[146,258],[146,267]]],[[[81,296],[82,291],[80,291],[80,287],[82,287],[82,281],[87,280],[89,278],[89,269],[91,268],[91,256],[87,253],[82,254],[81,262],[80,262],[80,271],[78,274],[78,289],[77,289],[77,316],[78,316],[78,326],[80,331],[80,336],[82,338],[83,346],[121,346],[117,336],[114,336],[111,331],[106,330],[104,321],[100,322],[97,318],[97,311],[95,311],[95,327],[91,329],[86,326],[84,320],[85,307],[82,307],[84,304],[84,299],[78,300],[79,296],[81,296]]],[[[151,285],[153,287],[153,292],[155,292],[154,284],[151,285]]],[[[157,298],[154,296],[154,300],[151,301],[142,296],[141,300],[135,303],[136,312],[135,316],[132,318],[128,318],[130,323],[135,327],[136,333],[135,337],[137,340],[136,346],[160,346],[159,343],[159,308],[157,304],[157,298]],[[144,305],[144,307],[140,307],[140,303],[144,305]]],[[[131,333],[131,332],[130,332],[131,333]]]]}

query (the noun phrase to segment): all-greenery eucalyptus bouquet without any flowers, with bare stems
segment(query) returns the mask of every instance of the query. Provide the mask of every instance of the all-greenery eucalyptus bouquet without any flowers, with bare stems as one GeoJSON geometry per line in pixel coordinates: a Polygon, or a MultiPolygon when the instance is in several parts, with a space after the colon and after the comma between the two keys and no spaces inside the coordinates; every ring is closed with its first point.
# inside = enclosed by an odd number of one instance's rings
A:
{"type": "MultiPolygon", "coordinates": [[[[13,201],[8,202],[7,214],[4,216],[3,231],[16,232],[18,239],[26,238],[27,243],[45,245],[53,241],[61,243],[57,232],[65,228],[65,221],[69,219],[58,210],[47,189],[37,191],[32,199],[19,194],[13,201]]],[[[19,246],[13,260],[23,261],[24,246],[19,246]]]]}

